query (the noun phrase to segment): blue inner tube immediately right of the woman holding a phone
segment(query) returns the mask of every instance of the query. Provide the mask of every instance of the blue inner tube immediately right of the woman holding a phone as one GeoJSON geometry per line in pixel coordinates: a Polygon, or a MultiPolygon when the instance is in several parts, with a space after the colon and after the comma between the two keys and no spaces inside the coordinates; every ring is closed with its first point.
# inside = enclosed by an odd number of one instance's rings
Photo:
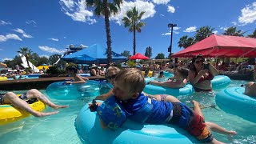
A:
{"type": "Polygon", "coordinates": [[[226,75],[216,75],[213,80],[211,80],[213,90],[223,89],[229,86],[231,80],[226,75]]]}

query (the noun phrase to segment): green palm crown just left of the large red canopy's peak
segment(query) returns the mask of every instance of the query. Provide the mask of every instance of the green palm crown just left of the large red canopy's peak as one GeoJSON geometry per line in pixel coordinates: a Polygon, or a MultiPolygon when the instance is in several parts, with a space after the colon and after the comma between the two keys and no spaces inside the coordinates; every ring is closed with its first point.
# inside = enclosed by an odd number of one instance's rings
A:
{"type": "Polygon", "coordinates": [[[196,31],[196,34],[194,36],[195,42],[202,41],[203,39],[209,37],[211,34],[213,34],[214,28],[210,26],[202,26],[199,28],[199,30],[196,31]]]}

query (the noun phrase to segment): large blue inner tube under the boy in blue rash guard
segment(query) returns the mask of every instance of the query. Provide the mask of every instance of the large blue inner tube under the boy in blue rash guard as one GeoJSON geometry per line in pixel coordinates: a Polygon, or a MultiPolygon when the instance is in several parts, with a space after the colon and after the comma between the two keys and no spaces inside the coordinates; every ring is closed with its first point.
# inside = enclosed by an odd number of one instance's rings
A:
{"type": "Polygon", "coordinates": [[[88,104],[80,110],[74,126],[82,143],[198,143],[185,130],[172,125],[143,125],[126,120],[118,130],[102,130],[98,115],[88,110],[88,104]]]}

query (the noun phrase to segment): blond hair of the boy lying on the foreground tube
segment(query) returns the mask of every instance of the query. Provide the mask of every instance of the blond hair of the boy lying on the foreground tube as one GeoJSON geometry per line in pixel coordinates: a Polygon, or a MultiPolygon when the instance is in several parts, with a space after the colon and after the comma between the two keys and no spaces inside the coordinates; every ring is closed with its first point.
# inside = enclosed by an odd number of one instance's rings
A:
{"type": "Polygon", "coordinates": [[[117,74],[115,82],[127,86],[130,93],[142,93],[146,86],[142,71],[135,68],[121,70],[117,74]]]}

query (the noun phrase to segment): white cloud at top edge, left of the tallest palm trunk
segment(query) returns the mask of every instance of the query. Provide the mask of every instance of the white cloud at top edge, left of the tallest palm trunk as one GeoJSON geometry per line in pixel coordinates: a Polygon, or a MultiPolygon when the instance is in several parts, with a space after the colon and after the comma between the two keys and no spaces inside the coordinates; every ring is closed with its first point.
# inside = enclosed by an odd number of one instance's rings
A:
{"type": "Polygon", "coordinates": [[[60,5],[62,6],[62,12],[70,16],[74,21],[87,22],[89,24],[94,24],[95,19],[91,18],[94,16],[93,11],[87,10],[86,0],[60,0],[60,5]]]}

